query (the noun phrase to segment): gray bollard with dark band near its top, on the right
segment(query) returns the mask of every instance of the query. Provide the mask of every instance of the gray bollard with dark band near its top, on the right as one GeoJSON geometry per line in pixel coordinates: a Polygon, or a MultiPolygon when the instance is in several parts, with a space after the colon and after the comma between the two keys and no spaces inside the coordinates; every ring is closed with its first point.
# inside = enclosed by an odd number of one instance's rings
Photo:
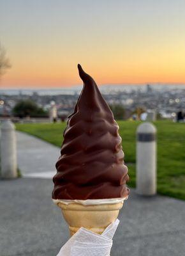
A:
{"type": "Polygon", "coordinates": [[[137,129],[137,193],[156,194],[156,127],[149,122],[137,129]]]}

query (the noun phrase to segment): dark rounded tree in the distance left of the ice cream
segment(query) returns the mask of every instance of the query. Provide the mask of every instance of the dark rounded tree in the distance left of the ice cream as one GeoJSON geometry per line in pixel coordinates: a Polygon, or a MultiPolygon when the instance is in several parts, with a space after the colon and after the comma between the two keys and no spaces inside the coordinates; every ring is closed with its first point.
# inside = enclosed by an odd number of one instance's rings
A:
{"type": "Polygon", "coordinates": [[[13,115],[20,118],[31,116],[31,117],[45,117],[47,112],[43,108],[38,107],[38,105],[31,100],[20,100],[17,102],[13,108],[13,115]]]}

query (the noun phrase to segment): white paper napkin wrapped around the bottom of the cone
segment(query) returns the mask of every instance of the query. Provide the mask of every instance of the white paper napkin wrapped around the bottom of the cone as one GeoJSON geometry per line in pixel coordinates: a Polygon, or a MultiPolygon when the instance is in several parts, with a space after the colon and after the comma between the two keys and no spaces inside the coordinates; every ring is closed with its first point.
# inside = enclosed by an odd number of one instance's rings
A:
{"type": "Polygon", "coordinates": [[[119,220],[111,223],[99,235],[83,227],[67,241],[57,256],[110,256],[112,238],[119,225],[119,220]]]}

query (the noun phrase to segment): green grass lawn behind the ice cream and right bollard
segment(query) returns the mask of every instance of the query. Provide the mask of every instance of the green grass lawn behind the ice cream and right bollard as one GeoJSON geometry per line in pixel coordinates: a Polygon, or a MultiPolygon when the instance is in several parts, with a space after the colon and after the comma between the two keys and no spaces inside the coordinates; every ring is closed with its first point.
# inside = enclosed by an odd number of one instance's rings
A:
{"type": "MultiPolygon", "coordinates": [[[[140,122],[119,121],[125,162],[135,187],[135,132],[140,122]]],[[[154,123],[158,129],[158,193],[185,200],[185,124],[154,123]]],[[[18,131],[33,134],[58,147],[63,141],[63,124],[16,124],[18,131]]]]}

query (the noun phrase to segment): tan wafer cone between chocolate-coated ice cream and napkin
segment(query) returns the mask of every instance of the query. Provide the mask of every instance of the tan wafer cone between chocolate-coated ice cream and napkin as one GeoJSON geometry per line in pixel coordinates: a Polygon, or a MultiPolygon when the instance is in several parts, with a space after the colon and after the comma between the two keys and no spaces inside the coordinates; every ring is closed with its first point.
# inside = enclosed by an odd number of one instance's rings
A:
{"type": "Polygon", "coordinates": [[[123,202],[117,204],[80,205],[57,204],[64,219],[69,225],[70,235],[73,236],[80,227],[87,228],[97,234],[102,234],[105,228],[117,219],[123,202]]]}

